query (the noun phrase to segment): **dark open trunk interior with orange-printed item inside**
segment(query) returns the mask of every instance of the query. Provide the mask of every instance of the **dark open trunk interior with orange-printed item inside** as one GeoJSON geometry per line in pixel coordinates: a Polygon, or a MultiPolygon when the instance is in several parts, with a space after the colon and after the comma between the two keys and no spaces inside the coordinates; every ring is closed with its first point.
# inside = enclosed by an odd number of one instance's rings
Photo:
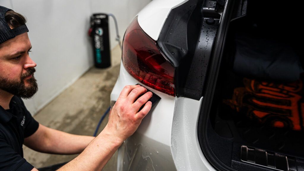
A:
{"type": "Polygon", "coordinates": [[[235,2],[234,11],[240,6],[246,15],[230,21],[202,128],[212,156],[207,158],[223,170],[302,171],[301,10],[296,4],[248,0],[235,2]]]}

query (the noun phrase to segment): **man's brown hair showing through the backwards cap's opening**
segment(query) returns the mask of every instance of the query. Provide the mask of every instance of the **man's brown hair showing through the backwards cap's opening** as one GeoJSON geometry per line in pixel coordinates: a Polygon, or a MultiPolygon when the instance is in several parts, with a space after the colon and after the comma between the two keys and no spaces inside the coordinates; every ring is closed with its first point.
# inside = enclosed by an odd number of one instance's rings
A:
{"type": "Polygon", "coordinates": [[[18,12],[10,10],[5,13],[5,21],[10,27],[17,28],[26,23],[26,18],[18,12]]]}

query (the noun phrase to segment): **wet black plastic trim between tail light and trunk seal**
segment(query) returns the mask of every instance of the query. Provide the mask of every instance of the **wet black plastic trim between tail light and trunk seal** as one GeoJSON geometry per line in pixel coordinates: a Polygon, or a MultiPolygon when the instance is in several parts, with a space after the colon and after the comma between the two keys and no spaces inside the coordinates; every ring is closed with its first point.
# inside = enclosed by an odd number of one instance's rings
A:
{"type": "Polygon", "coordinates": [[[221,8],[216,0],[189,0],[172,9],[164,23],[157,44],[175,68],[178,97],[202,97],[221,8]]]}

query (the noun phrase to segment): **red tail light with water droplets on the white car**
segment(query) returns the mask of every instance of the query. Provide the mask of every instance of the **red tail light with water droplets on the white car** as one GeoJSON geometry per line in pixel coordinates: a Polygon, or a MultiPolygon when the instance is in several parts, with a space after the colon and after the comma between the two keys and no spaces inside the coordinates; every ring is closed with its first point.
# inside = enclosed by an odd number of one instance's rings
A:
{"type": "Polygon", "coordinates": [[[141,30],[137,17],[125,33],[123,65],[139,82],[175,96],[174,67],[161,53],[156,42],[141,30]]]}

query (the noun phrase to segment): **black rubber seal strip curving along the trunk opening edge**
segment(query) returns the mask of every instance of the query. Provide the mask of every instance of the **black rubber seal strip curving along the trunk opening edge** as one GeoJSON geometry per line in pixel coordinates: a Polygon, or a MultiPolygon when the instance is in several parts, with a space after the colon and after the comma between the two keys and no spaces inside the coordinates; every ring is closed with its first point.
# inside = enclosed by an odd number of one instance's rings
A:
{"type": "MultiPolygon", "coordinates": [[[[227,167],[225,164],[219,161],[217,157],[210,150],[210,145],[207,137],[207,126],[209,123],[209,113],[215,91],[215,85],[219,74],[219,66],[221,63],[221,57],[223,49],[225,47],[225,39],[228,31],[230,19],[232,18],[234,1],[226,0],[226,8],[222,13],[221,23],[219,26],[219,32],[217,34],[216,44],[213,52],[212,59],[209,64],[208,78],[205,83],[205,92],[203,94],[203,102],[199,116],[198,124],[198,137],[201,149],[206,159],[212,164],[214,168],[220,171],[234,170],[227,167]]],[[[210,126],[210,125],[209,125],[210,126]]]]}

